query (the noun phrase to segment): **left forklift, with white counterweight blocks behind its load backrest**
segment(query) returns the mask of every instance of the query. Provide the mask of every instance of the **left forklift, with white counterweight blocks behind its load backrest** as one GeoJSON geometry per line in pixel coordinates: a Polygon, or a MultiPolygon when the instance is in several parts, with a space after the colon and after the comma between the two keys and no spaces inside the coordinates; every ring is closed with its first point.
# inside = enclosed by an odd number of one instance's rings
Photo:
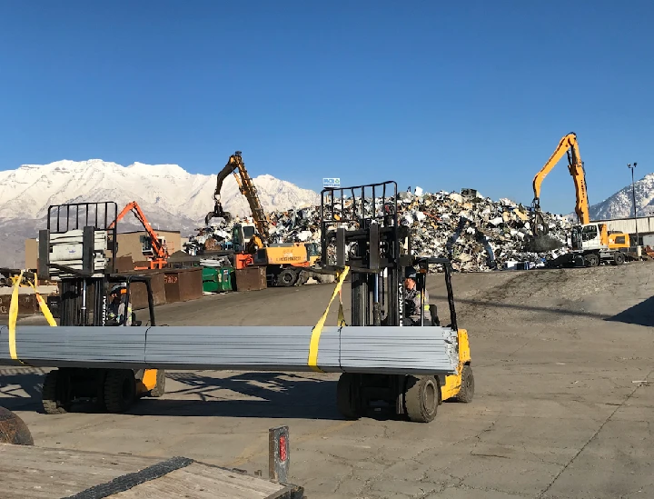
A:
{"type": "MultiPolygon", "coordinates": [[[[114,273],[118,207],[114,202],[53,205],[47,229],[39,231],[38,277],[58,281],[52,303],[60,326],[142,327],[131,310],[133,284],[145,287],[149,321],[155,325],[149,275],[114,273]]],[[[99,342],[101,344],[101,342],[99,342]]],[[[45,414],[64,414],[75,403],[94,402],[109,413],[123,413],[142,396],[159,397],[165,373],[157,369],[59,367],[45,375],[45,414]]]]}

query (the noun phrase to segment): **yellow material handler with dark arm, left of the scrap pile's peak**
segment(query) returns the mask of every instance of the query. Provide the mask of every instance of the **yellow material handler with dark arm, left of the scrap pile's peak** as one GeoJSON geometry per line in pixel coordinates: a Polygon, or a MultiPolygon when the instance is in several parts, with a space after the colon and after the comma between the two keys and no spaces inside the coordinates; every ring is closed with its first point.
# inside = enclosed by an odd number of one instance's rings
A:
{"type": "Polygon", "coordinates": [[[209,225],[212,218],[223,218],[229,222],[233,219],[230,212],[223,209],[221,191],[223,182],[233,174],[239,191],[250,205],[252,223],[245,222],[233,225],[232,242],[234,249],[234,266],[243,269],[250,265],[266,267],[266,277],[269,285],[292,286],[302,284],[308,278],[308,269],[319,258],[318,245],[315,243],[283,243],[272,244],[270,236],[270,219],[263,210],[257,189],[248,175],[243,163],[241,151],[230,156],[227,165],[220,171],[213,192],[213,211],[204,218],[209,225]]]}

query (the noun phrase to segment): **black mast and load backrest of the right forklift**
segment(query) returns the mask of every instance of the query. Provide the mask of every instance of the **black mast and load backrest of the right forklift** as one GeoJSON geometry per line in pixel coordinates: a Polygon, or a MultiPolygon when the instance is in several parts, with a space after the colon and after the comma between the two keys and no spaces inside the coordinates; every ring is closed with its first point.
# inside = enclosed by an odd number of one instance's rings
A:
{"type": "Polygon", "coordinates": [[[321,266],[352,273],[352,325],[402,325],[411,243],[398,224],[397,184],[323,189],[321,230],[321,266]]]}

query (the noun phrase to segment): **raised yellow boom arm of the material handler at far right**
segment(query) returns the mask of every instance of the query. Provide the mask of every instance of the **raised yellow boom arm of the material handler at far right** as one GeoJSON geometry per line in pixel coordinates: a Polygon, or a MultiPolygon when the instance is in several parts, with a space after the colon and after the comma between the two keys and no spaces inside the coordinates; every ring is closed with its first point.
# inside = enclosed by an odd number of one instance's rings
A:
{"type": "MultiPolygon", "coordinates": [[[[590,208],[588,193],[586,191],[586,176],[584,173],[583,162],[581,161],[581,155],[579,150],[579,144],[577,143],[577,135],[570,133],[564,136],[559,145],[557,146],[554,153],[550,156],[550,159],[547,163],[540,169],[540,172],[536,174],[533,179],[533,190],[534,190],[534,199],[533,199],[533,208],[536,212],[536,217],[540,217],[542,220],[542,215],[540,214],[540,185],[545,177],[550,173],[551,169],[554,168],[563,155],[568,155],[568,169],[570,170],[570,175],[572,175],[572,180],[575,185],[575,192],[577,195],[577,204],[575,205],[575,212],[580,219],[581,224],[588,224],[590,222],[590,208]]],[[[536,227],[533,228],[536,231],[536,227]]]]}

